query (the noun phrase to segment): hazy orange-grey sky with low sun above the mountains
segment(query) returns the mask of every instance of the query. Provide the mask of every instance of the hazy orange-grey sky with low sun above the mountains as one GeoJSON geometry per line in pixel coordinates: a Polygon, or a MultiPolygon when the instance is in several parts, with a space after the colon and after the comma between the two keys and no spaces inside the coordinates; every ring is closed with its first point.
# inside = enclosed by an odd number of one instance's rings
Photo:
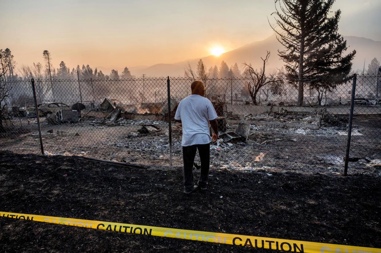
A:
{"type": "MultiPolygon", "coordinates": [[[[274,0],[0,0],[0,48],[18,63],[105,69],[174,63],[226,51],[272,34],[274,0]],[[272,17],[270,17],[272,18],[272,17]]],[[[339,32],[381,40],[380,0],[336,0],[339,32]]]]}

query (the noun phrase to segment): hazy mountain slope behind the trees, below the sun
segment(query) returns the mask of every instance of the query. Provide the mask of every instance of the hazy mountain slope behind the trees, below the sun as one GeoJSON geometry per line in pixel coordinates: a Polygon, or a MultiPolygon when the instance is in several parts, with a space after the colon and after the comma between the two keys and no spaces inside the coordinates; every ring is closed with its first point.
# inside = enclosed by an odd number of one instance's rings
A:
{"type": "MultiPolygon", "coordinates": [[[[360,68],[362,70],[365,59],[365,69],[367,69],[368,64],[371,59],[376,57],[381,60],[381,41],[373,41],[367,38],[356,37],[356,36],[344,36],[347,40],[348,51],[356,50],[356,55],[353,61],[353,69],[357,70],[360,68]]],[[[262,41],[255,41],[250,44],[246,44],[237,49],[225,52],[224,54],[217,56],[209,55],[207,57],[200,57],[196,59],[184,60],[182,62],[176,62],[173,64],[155,64],[152,66],[139,66],[130,68],[131,73],[139,76],[141,74],[147,74],[148,76],[184,76],[184,67],[187,62],[191,63],[191,66],[195,68],[197,62],[202,59],[204,64],[209,68],[210,66],[219,65],[221,61],[225,61],[228,66],[237,63],[242,66],[243,62],[251,63],[255,68],[260,68],[261,57],[266,56],[266,51],[271,52],[269,59],[269,64],[267,70],[272,70],[274,68],[281,68],[284,63],[279,60],[278,49],[281,44],[277,41],[275,35],[270,36],[262,41]]]]}

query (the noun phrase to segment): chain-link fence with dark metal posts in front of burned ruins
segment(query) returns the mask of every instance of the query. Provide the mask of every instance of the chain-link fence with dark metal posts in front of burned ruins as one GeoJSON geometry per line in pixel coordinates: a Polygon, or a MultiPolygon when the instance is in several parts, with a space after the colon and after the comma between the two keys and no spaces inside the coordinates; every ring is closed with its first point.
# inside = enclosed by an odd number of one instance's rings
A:
{"type": "MultiPolygon", "coordinates": [[[[352,84],[356,80],[348,172],[378,173],[380,79],[354,76],[335,89],[323,85],[333,79],[322,81],[315,89],[306,84],[303,106],[298,106],[300,93],[293,80],[274,78],[265,84],[253,78],[200,80],[219,116],[220,139],[211,144],[211,167],[342,174],[352,84]]],[[[179,101],[191,94],[192,81],[35,80],[45,153],[146,165],[169,165],[172,155],[173,165],[181,166],[182,128],[174,123],[173,116],[179,101]]],[[[3,86],[6,97],[2,101],[0,149],[41,152],[31,81],[7,82],[3,86]]]]}

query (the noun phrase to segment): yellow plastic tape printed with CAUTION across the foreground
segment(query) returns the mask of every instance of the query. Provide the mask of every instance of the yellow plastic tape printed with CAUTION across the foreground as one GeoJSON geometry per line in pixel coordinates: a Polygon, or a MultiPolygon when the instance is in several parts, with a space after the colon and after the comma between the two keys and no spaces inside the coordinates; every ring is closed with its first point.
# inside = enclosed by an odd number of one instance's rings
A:
{"type": "Polygon", "coordinates": [[[253,248],[266,248],[271,250],[284,250],[307,253],[381,253],[381,248],[324,244],[319,242],[304,242],[298,240],[277,239],[259,236],[242,236],[237,234],[224,234],[176,228],[141,226],[106,221],[82,220],[73,218],[52,217],[45,215],[31,215],[24,213],[0,212],[0,217],[41,221],[46,223],[55,223],[83,228],[103,229],[133,234],[143,234],[149,236],[162,236],[186,240],[247,246],[253,248]]]}

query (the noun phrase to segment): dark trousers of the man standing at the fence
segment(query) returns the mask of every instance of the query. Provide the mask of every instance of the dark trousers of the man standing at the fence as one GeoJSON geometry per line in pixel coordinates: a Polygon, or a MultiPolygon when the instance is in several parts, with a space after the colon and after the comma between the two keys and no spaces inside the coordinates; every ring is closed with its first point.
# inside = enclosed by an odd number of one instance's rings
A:
{"type": "Polygon", "coordinates": [[[199,150],[201,161],[201,176],[198,185],[203,186],[208,183],[210,144],[182,147],[182,159],[184,160],[184,190],[192,189],[194,185],[193,163],[197,149],[199,150]]]}

